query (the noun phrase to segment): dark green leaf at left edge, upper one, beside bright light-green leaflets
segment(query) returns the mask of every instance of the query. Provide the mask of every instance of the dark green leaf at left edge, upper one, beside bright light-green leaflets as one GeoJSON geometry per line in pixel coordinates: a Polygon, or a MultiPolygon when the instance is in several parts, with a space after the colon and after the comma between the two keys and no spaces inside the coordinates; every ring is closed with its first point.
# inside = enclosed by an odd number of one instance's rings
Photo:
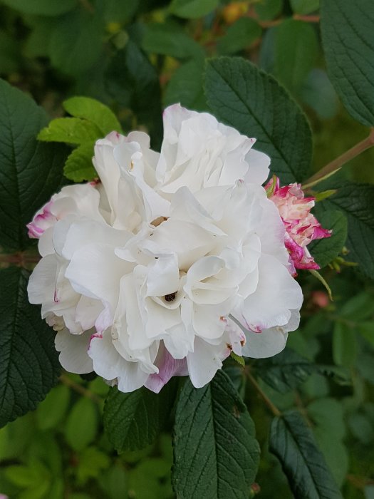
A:
{"type": "Polygon", "coordinates": [[[25,249],[26,224],[61,183],[66,148],[41,144],[46,115],[31,98],[0,80],[0,245],[25,249]]]}

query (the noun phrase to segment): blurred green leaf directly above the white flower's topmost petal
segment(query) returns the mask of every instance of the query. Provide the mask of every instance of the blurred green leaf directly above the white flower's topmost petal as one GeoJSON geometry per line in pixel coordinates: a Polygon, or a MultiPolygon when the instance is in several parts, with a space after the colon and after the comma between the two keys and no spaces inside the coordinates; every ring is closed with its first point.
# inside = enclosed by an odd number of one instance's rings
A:
{"type": "Polygon", "coordinates": [[[165,90],[165,106],[179,102],[182,106],[195,110],[206,110],[202,90],[203,66],[196,61],[182,64],[173,73],[165,90]]]}

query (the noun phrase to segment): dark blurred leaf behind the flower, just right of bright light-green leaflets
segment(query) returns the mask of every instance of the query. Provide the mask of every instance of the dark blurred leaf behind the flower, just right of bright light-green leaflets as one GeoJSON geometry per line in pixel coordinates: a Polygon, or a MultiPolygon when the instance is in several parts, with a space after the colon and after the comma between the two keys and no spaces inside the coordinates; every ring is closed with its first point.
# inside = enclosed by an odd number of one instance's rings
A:
{"type": "Polygon", "coordinates": [[[160,82],[155,68],[133,41],[112,58],[105,82],[108,93],[131,108],[138,123],[150,130],[152,147],[157,149],[162,140],[160,82]]]}

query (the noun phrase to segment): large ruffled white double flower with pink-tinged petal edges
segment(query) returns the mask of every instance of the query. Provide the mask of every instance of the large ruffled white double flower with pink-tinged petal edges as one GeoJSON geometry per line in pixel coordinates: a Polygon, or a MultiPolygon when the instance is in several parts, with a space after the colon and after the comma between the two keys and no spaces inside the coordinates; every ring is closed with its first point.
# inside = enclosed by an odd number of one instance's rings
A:
{"type": "Polygon", "coordinates": [[[160,153],[145,133],[110,133],[95,145],[100,180],[63,187],[36,214],[28,296],[66,370],[160,391],[175,375],[204,386],[231,351],[284,349],[303,297],[254,142],[171,106],[160,153]]]}

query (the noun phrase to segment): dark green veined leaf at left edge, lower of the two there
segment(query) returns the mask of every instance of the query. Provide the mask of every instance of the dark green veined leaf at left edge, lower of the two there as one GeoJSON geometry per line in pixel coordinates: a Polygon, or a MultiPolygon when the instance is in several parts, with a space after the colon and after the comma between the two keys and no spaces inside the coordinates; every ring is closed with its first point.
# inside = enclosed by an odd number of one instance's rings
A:
{"type": "Polygon", "coordinates": [[[0,270],[0,426],[36,408],[60,370],[53,331],[28,303],[28,272],[0,270]]]}

